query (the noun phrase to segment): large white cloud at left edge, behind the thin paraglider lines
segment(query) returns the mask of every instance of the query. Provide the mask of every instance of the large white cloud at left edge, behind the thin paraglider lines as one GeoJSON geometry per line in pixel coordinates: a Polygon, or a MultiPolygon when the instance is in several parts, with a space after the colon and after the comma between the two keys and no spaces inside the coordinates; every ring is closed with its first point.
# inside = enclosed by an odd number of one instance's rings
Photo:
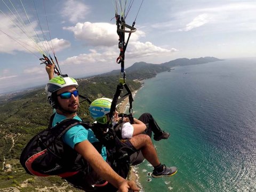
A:
{"type": "MultiPolygon", "coordinates": [[[[55,51],[63,50],[70,46],[70,42],[65,39],[54,38],[51,41],[42,41],[42,31],[36,31],[37,22],[31,22],[25,28],[19,26],[19,23],[11,22],[9,17],[0,17],[0,52],[13,54],[15,51],[26,53],[46,52],[47,47],[53,45],[55,51]],[[41,36],[41,37],[40,37],[41,36]]],[[[18,21],[17,21],[18,22],[18,21]]]]}

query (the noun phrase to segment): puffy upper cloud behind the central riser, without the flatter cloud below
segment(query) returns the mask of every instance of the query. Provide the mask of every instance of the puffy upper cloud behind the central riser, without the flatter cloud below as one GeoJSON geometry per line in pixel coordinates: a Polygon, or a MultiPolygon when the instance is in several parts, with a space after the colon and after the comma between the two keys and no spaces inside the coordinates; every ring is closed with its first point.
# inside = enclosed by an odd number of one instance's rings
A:
{"type": "MultiPolygon", "coordinates": [[[[63,29],[72,31],[75,38],[82,40],[85,45],[113,46],[118,43],[116,25],[114,24],[84,22],[77,23],[74,27],[64,27],[63,29]]],[[[145,36],[145,33],[137,30],[135,33],[132,33],[130,41],[137,41],[142,36],[145,36]]]]}

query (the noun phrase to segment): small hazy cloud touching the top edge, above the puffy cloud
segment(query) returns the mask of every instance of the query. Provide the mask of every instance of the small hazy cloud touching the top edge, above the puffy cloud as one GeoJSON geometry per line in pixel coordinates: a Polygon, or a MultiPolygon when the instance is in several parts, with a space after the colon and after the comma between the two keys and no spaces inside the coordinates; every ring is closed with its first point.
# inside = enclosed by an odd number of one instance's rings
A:
{"type": "Polygon", "coordinates": [[[85,16],[89,13],[89,6],[76,0],[68,0],[64,3],[62,10],[62,17],[67,18],[70,22],[78,22],[85,19],[85,16]]]}

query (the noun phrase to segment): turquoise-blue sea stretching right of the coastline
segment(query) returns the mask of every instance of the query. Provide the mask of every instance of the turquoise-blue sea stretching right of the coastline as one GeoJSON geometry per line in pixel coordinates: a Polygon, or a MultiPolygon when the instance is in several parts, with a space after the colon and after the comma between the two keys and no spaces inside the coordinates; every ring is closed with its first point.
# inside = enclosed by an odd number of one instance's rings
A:
{"type": "Polygon", "coordinates": [[[141,191],[256,191],[256,59],[174,67],[147,79],[134,116],[149,112],[167,140],[154,141],[172,177],[135,166],[141,191]]]}

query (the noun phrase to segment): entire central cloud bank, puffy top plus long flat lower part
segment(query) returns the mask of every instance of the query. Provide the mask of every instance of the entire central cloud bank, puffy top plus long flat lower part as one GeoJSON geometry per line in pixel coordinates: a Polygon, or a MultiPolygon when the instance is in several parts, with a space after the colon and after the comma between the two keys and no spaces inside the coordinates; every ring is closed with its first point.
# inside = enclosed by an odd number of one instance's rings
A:
{"type": "MultiPolygon", "coordinates": [[[[115,62],[119,56],[118,35],[116,25],[110,23],[77,23],[74,27],[64,29],[73,31],[76,39],[79,39],[88,46],[94,46],[89,53],[79,54],[67,58],[63,65],[89,65],[89,63],[111,63],[115,62]]],[[[146,34],[142,30],[137,30],[131,34],[131,38],[126,50],[127,58],[142,58],[147,56],[170,54],[177,49],[164,49],[151,42],[142,43],[140,37],[146,34]]],[[[126,38],[128,33],[126,33],[126,38]]],[[[98,64],[97,64],[98,65],[98,64]]]]}

